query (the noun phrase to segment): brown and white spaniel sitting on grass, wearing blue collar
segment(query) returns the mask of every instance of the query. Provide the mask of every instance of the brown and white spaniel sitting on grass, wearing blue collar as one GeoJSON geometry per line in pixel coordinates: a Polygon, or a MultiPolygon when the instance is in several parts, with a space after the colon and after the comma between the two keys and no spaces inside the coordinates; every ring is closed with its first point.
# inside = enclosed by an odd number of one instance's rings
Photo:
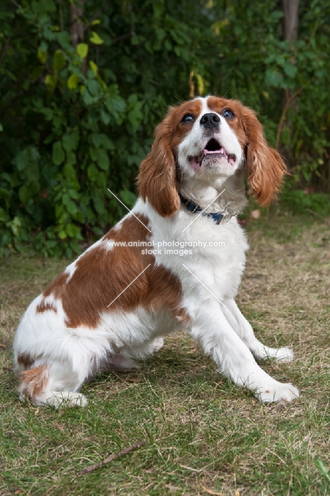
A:
{"type": "Polygon", "coordinates": [[[186,329],[234,383],[260,401],[299,396],[256,362],[289,362],[238,309],[248,248],[237,214],[249,194],[276,196],[286,168],[254,112],[199,97],[170,107],[155,130],[131,211],[59,274],[28,307],[14,339],[20,400],[85,406],[79,388],[95,372],[139,367],[186,329]]]}

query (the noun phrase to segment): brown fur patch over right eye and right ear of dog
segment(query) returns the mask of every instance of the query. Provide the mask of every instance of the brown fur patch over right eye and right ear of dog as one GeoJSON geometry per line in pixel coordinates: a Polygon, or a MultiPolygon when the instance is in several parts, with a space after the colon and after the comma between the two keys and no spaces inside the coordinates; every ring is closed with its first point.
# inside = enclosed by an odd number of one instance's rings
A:
{"type": "Polygon", "coordinates": [[[208,106],[218,114],[224,109],[230,109],[235,114],[227,123],[235,132],[242,149],[246,150],[249,193],[261,206],[269,205],[276,197],[287,170],[279,153],[267,144],[255,113],[239,101],[225,98],[209,97],[208,106]]]}

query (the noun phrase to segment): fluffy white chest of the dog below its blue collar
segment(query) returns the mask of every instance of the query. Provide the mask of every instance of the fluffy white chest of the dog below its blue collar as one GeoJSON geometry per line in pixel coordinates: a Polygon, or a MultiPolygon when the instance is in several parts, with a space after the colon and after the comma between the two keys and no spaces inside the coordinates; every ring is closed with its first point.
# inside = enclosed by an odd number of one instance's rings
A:
{"type": "Polygon", "coordinates": [[[217,225],[212,219],[201,216],[185,229],[194,218],[186,215],[182,217],[178,219],[179,229],[174,232],[168,229],[166,232],[164,222],[162,233],[158,232],[158,238],[174,243],[170,249],[166,247],[156,256],[157,263],[164,264],[180,275],[183,293],[187,298],[192,293],[196,293],[199,298],[207,289],[220,299],[234,298],[248,248],[245,233],[236,218],[217,225]]]}

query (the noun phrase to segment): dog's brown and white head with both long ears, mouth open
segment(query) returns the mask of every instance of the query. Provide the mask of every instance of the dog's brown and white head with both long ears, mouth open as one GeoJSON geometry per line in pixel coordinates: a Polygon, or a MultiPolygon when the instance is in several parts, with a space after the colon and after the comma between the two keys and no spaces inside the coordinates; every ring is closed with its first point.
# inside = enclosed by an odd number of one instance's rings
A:
{"type": "Polygon", "coordinates": [[[286,167],[254,112],[237,100],[209,96],[170,107],[138,176],[139,194],[162,216],[180,206],[180,177],[212,185],[246,166],[249,193],[267,206],[286,167]]]}

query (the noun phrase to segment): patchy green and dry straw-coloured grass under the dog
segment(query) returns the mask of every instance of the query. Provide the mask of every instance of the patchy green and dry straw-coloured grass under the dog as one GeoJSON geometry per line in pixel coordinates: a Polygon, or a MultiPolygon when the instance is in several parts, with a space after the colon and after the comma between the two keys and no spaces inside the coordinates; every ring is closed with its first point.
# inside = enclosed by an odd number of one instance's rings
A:
{"type": "Polygon", "coordinates": [[[237,303],[265,344],[293,347],[291,364],[263,364],[299,388],[291,404],[261,405],[183,332],[141,371],[95,377],[86,409],[20,404],[15,327],[67,261],[33,252],[0,261],[1,495],[330,495],[329,223],[266,212],[248,231],[237,303]]]}

